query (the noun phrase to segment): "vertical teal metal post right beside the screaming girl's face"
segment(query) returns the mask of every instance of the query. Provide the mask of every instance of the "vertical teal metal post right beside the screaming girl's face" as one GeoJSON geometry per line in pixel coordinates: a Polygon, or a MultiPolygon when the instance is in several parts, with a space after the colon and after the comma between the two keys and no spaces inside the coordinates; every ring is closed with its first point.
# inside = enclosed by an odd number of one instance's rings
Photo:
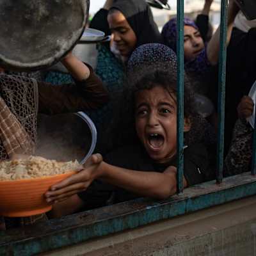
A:
{"type": "Polygon", "coordinates": [[[178,193],[183,192],[183,173],[184,173],[184,1],[177,0],[177,141],[178,141],[178,172],[177,184],[178,193]]]}

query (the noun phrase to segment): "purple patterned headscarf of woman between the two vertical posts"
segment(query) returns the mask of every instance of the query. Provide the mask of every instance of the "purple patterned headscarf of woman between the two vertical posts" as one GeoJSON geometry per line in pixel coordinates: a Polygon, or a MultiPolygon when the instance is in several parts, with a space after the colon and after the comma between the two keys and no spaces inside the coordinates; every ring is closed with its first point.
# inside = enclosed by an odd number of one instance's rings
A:
{"type": "MultiPolygon", "coordinates": [[[[194,20],[189,18],[184,18],[184,26],[191,26],[198,30],[198,26],[196,26],[194,20]]],[[[164,40],[164,44],[168,45],[168,47],[172,48],[173,51],[177,52],[177,18],[173,18],[169,20],[163,27],[162,36],[164,40]]]]}

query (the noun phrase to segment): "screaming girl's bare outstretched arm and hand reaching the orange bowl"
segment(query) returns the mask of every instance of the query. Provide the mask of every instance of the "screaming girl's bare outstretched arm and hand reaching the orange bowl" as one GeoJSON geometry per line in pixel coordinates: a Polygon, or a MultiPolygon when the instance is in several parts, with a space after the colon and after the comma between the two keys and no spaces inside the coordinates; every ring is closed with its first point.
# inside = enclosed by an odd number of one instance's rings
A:
{"type": "MultiPolygon", "coordinates": [[[[84,170],[52,186],[45,196],[47,202],[61,201],[84,191],[94,179],[127,189],[141,196],[157,199],[168,198],[176,193],[176,168],[170,166],[163,173],[127,170],[102,161],[99,154],[93,155],[84,170]]],[[[184,179],[184,187],[188,183],[184,179]]]]}

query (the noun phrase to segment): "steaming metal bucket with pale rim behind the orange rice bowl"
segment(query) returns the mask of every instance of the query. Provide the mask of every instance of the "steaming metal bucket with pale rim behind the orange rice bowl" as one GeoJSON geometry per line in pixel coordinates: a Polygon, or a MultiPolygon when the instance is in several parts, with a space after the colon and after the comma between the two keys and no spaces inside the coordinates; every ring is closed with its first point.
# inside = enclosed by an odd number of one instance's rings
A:
{"type": "Polygon", "coordinates": [[[83,112],[38,116],[36,156],[83,164],[97,142],[97,130],[83,112]]]}

